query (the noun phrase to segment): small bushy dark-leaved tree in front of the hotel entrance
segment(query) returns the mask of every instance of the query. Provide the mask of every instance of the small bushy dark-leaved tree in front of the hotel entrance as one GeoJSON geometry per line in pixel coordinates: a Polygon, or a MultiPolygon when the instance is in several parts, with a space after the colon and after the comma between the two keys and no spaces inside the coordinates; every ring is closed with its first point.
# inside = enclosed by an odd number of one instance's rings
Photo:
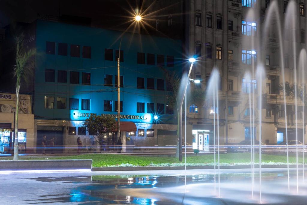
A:
{"type": "Polygon", "coordinates": [[[83,126],[86,127],[87,131],[94,134],[95,140],[100,145],[100,152],[106,132],[114,130],[115,123],[116,120],[111,116],[99,116],[94,114],[91,114],[91,116],[83,122],[83,126]]]}

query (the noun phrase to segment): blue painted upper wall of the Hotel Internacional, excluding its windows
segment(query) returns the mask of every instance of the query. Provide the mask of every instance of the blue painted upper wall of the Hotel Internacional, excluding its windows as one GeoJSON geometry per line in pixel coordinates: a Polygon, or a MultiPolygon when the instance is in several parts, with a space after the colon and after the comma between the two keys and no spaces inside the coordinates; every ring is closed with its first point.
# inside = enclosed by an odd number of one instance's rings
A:
{"type": "MultiPolygon", "coordinates": [[[[99,28],[77,26],[58,22],[38,20],[36,22],[36,57],[34,114],[41,119],[84,120],[78,117],[80,113],[116,114],[115,101],[117,91],[115,87],[103,86],[104,75],[117,75],[117,61],[105,61],[104,49],[119,49],[117,40],[122,32],[99,28]],[[117,41],[116,41],[117,40],[117,41]],[[46,54],[46,41],[56,42],[54,55],[46,54]],[[68,44],[68,55],[58,55],[58,43],[68,44]],[[70,45],[80,45],[80,57],[70,57],[70,45]],[[82,47],[91,46],[91,59],[82,57],[82,47]],[[45,69],[55,69],[55,82],[45,82],[45,69]],[[57,83],[57,70],[67,70],[67,83],[57,83]],[[69,71],[80,72],[80,84],[69,83],[69,71]],[[91,85],[82,85],[82,72],[91,73],[91,85]],[[44,96],[55,97],[55,108],[44,107],[44,96]],[[56,108],[56,97],[66,97],[66,109],[56,108]],[[69,109],[69,98],[79,98],[79,110],[69,109]],[[81,110],[81,99],[90,99],[90,110],[81,110]],[[113,102],[112,112],[103,111],[103,101],[113,102]],[[75,115],[74,115],[75,113],[75,115]]],[[[167,91],[157,90],[157,78],[165,79],[163,71],[157,66],[157,54],[174,56],[173,68],[170,71],[182,71],[181,41],[163,37],[126,33],[122,37],[121,50],[124,51],[124,62],[120,63],[120,75],[123,75],[120,100],[123,101],[123,115],[146,116],[147,120],[132,120],[134,122],[154,122],[153,114],[146,114],[146,103],[164,103],[164,115],[159,116],[160,123],[176,124],[173,115],[166,114],[167,91]],[[137,64],[137,53],[145,53],[145,65],[137,64]],[[147,53],[155,54],[155,65],[147,65],[147,53]],[[145,89],[137,89],[137,77],[145,77],[145,89]],[[146,89],[146,78],[155,78],[155,90],[146,89]],[[145,113],[137,113],[137,102],[145,103],[145,113]]],[[[165,63],[166,65],[166,63],[165,63]]],[[[166,90],[166,80],[165,80],[166,90]]]]}

